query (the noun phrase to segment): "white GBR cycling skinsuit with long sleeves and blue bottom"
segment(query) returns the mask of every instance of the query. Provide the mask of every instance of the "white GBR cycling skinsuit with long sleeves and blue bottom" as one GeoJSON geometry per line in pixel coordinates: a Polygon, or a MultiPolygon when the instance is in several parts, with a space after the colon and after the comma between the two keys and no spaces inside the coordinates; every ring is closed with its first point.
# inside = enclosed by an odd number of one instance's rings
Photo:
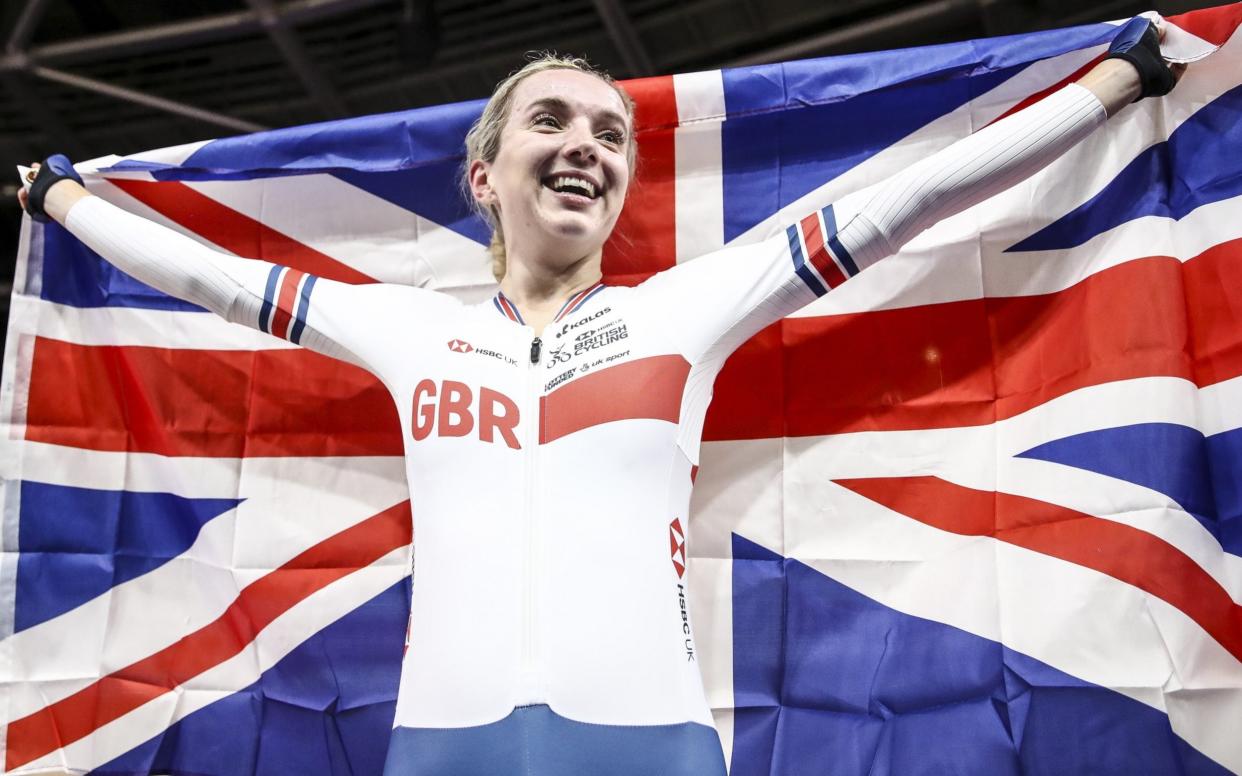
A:
{"type": "Polygon", "coordinates": [[[1068,86],[777,237],[633,288],[585,289],[542,332],[503,294],[463,305],[318,279],[99,197],[66,225],[137,278],[359,364],[395,397],[416,567],[386,774],[712,776],[725,764],[687,616],[684,538],[720,366],[1104,118],[1068,86]]]}

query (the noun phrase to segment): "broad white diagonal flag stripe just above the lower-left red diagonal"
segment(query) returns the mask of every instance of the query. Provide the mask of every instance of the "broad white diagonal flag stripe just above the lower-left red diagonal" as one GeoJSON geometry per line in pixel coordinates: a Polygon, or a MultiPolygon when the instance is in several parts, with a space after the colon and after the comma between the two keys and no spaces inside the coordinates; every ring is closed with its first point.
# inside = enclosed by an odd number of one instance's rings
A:
{"type": "MultiPolygon", "coordinates": [[[[273,472],[279,479],[246,474],[247,500],[204,525],[188,551],[0,643],[9,664],[29,679],[14,688],[4,721],[63,697],[41,680],[98,678],[149,657],[216,620],[261,570],[384,508],[306,484],[322,480],[289,479],[289,472],[273,472]]],[[[388,493],[369,498],[388,495],[394,504],[406,498],[404,489],[404,480],[389,483],[388,493]]]]}

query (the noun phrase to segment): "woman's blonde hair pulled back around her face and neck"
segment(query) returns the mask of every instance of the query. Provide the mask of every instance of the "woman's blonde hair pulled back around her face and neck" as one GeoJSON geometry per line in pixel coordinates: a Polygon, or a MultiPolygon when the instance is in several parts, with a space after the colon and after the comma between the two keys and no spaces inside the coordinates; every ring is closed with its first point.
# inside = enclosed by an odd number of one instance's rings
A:
{"type": "Polygon", "coordinates": [[[513,92],[518,88],[519,83],[535,73],[542,73],[549,70],[575,70],[581,73],[595,76],[600,81],[607,83],[616,89],[616,93],[621,97],[621,102],[625,104],[626,109],[626,118],[630,119],[630,138],[626,143],[626,159],[630,163],[631,174],[633,173],[635,163],[638,158],[637,138],[633,137],[633,99],[626,94],[625,89],[616,84],[612,76],[595,67],[582,57],[561,56],[551,51],[542,51],[528,56],[530,60],[529,62],[513,71],[503,81],[496,84],[492,97],[487,101],[487,106],[483,107],[483,114],[478,117],[478,120],[476,120],[469,128],[469,132],[466,133],[466,166],[462,170],[462,189],[474,210],[483,217],[484,221],[487,221],[488,226],[492,227],[492,242],[488,245],[487,250],[492,255],[492,274],[496,276],[497,281],[504,277],[505,269],[504,233],[501,231],[501,217],[494,207],[483,206],[471,194],[469,168],[476,160],[496,160],[496,155],[501,151],[501,133],[504,129],[505,123],[509,120],[509,113],[513,107],[513,92]]]}

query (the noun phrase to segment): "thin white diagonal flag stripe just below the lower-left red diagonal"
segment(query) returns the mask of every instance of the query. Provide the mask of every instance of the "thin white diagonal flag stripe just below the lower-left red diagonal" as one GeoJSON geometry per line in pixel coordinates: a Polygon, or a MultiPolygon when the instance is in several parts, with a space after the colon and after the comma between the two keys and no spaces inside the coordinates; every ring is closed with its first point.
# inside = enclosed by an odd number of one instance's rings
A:
{"type": "MultiPolygon", "coordinates": [[[[389,553],[282,613],[256,636],[248,648],[229,661],[104,725],[96,735],[70,744],[26,767],[88,771],[107,764],[215,700],[253,684],[298,644],[396,584],[407,571],[406,549],[389,553]]],[[[22,769],[21,772],[25,771],[22,769]]]]}

